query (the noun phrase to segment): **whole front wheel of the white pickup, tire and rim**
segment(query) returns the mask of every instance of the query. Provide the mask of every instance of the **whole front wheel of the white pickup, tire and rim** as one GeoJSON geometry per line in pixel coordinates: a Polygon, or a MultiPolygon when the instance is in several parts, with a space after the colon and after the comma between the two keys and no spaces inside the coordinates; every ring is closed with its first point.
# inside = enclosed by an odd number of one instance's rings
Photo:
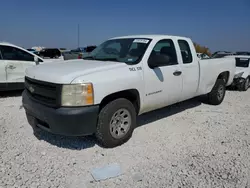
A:
{"type": "Polygon", "coordinates": [[[135,126],[134,105],[127,99],[116,99],[101,109],[95,135],[102,146],[113,148],[127,142],[135,126]]]}

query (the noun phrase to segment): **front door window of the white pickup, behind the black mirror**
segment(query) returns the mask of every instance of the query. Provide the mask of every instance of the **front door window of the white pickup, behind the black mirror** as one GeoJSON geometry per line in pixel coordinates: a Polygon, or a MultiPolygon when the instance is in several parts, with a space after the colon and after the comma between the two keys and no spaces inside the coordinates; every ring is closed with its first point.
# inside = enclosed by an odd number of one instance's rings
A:
{"type": "Polygon", "coordinates": [[[171,39],[164,39],[156,43],[149,56],[149,59],[154,58],[157,55],[165,55],[169,58],[169,61],[165,64],[162,64],[162,66],[178,64],[175,46],[171,39]]]}

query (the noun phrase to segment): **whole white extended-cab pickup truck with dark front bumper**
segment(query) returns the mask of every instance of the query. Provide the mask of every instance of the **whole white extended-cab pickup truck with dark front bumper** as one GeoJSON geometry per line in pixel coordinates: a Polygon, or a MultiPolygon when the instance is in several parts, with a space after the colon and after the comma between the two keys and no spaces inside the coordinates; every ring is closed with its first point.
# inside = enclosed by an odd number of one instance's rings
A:
{"type": "Polygon", "coordinates": [[[95,134],[104,147],[125,143],[137,115],[195,96],[219,105],[235,60],[202,60],[189,38],[136,35],[107,40],[80,60],[26,69],[23,106],[33,128],[95,134]]]}

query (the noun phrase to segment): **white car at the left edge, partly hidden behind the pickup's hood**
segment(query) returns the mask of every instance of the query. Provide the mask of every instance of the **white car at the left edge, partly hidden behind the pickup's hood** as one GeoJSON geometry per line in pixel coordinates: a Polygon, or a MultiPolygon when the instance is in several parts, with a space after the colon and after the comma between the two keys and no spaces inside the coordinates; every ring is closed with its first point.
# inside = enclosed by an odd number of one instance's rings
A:
{"type": "Polygon", "coordinates": [[[23,89],[26,68],[51,61],[22,47],[0,43],[0,91],[23,89]]]}

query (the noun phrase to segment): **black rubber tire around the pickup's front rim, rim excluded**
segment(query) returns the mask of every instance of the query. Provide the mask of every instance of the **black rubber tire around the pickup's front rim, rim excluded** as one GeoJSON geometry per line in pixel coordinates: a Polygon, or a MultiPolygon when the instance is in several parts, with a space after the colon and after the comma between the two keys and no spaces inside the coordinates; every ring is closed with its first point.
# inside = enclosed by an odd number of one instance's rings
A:
{"type": "Polygon", "coordinates": [[[97,131],[95,136],[99,143],[105,148],[113,148],[127,142],[136,127],[136,111],[134,105],[127,99],[120,98],[111,101],[104,106],[98,117],[97,131]],[[113,115],[120,109],[126,109],[130,113],[131,124],[127,133],[122,138],[114,138],[110,132],[110,122],[113,115]]]}

